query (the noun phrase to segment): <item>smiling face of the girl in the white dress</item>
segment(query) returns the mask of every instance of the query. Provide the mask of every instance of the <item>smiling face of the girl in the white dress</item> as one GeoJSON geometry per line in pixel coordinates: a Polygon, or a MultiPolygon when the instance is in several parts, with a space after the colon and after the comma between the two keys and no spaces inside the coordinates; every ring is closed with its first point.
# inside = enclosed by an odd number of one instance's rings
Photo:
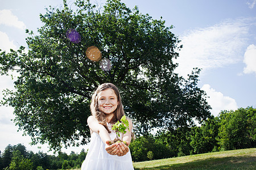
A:
{"type": "Polygon", "coordinates": [[[98,93],[98,108],[101,112],[105,114],[112,114],[115,109],[117,109],[117,105],[117,95],[115,95],[113,89],[108,88],[107,90],[98,93]]]}

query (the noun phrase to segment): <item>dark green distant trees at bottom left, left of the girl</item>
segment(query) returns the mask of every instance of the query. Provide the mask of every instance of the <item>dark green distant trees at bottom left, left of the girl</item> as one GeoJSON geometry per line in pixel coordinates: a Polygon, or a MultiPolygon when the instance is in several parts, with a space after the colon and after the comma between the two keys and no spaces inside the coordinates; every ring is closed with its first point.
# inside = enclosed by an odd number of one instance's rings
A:
{"type": "Polygon", "coordinates": [[[47,155],[43,152],[27,151],[22,144],[8,145],[1,154],[0,169],[27,170],[27,169],[71,169],[80,168],[86,156],[82,149],[80,154],[71,152],[70,155],[58,152],[57,156],[47,155]]]}

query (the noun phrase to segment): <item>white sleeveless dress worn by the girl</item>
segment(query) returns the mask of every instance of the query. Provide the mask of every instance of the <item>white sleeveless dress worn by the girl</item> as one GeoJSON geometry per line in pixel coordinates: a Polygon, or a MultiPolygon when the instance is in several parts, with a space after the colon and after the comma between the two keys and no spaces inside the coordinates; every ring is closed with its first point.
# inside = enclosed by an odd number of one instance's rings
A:
{"type": "MultiPolygon", "coordinates": [[[[111,125],[108,124],[109,130],[111,130],[111,125]]],[[[113,140],[116,137],[116,133],[112,131],[109,134],[110,138],[113,140]]],[[[86,158],[82,163],[81,170],[131,170],[133,168],[133,162],[131,160],[130,150],[126,155],[117,156],[110,155],[105,150],[105,143],[101,140],[100,135],[93,132],[90,137],[89,150],[87,152],[86,158]]]]}

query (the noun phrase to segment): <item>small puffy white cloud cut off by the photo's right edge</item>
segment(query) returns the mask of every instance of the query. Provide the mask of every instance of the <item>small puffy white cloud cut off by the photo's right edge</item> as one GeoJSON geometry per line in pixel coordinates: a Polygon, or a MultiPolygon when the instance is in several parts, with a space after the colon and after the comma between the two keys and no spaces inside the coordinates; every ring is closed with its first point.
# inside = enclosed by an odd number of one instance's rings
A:
{"type": "Polygon", "coordinates": [[[256,46],[254,44],[247,47],[243,62],[246,64],[246,67],[243,69],[243,73],[256,74],[256,46]]]}

